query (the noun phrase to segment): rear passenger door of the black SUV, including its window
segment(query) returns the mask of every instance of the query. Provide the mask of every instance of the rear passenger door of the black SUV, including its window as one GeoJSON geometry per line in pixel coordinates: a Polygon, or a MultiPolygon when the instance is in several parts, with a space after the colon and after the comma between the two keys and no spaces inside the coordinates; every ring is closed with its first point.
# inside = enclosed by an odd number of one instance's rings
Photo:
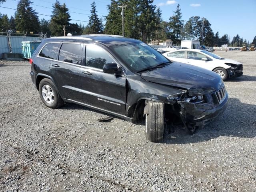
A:
{"type": "Polygon", "coordinates": [[[80,68],[82,44],[61,42],[58,58],[50,64],[50,74],[65,99],[82,102],[80,68]]]}

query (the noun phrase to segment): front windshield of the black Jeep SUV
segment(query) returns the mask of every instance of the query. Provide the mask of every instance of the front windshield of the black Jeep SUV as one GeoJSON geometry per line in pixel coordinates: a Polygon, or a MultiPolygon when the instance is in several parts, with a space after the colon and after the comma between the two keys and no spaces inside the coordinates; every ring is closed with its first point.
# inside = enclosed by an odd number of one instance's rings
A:
{"type": "Polygon", "coordinates": [[[118,57],[135,72],[170,62],[162,54],[143,42],[112,46],[118,57]]]}

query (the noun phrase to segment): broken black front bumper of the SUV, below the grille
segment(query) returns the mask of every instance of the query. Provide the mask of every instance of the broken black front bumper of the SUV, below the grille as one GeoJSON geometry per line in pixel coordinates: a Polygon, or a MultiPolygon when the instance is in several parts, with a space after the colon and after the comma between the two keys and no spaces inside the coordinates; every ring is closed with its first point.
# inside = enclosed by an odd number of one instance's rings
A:
{"type": "Polygon", "coordinates": [[[183,122],[202,126],[212,122],[216,117],[223,114],[228,106],[228,94],[218,106],[212,109],[199,108],[196,104],[182,102],[180,117],[183,122]]]}

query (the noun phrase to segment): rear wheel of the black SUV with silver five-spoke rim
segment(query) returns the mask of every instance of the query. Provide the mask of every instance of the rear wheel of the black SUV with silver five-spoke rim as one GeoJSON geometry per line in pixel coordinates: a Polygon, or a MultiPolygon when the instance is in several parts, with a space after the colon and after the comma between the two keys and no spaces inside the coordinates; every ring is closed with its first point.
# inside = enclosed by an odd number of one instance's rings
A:
{"type": "Polygon", "coordinates": [[[39,83],[39,95],[42,102],[49,108],[56,109],[64,104],[52,80],[44,78],[39,83]]]}

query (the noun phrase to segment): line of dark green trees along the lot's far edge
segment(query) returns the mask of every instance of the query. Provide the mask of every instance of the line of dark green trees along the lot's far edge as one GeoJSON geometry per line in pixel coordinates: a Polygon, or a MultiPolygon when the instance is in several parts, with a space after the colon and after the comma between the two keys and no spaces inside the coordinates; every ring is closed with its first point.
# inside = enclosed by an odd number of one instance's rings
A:
{"type": "MultiPolygon", "coordinates": [[[[100,18],[97,14],[96,3],[91,4],[91,14],[88,24],[82,26],[70,23],[69,10],[66,4],[60,4],[58,0],[52,5],[50,20],[39,21],[37,12],[32,8],[30,0],[20,0],[14,17],[0,13],[0,29],[32,31],[47,33],[48,36],[63,36],[65,26],[66,34],[113,34],[122,35],[122,9],[118,6],[127,5],[124,9],[124,34],[126,37],[140,39],[149,43],[171,39],[174,45],[180,44],[180,40],[198,40],[206,46],[221,46],[229,44],[228,34],[219,36],[219,32],[212,31],[207,18],[198,16],[190,17],[184,23],[182,12],[178,4],[173,16],[168,21],[162,20],[162,12],[153,4],[153,0],[110,0],[107,5],[108,15],[100,18]],[[105,21],[105,24],[103,22],[105,21]]],[[[254,38],[255,41],[256,37],[254,38]]],[[[249,44],[248,41],[235,36],[230,46],[249,44]]]]}

